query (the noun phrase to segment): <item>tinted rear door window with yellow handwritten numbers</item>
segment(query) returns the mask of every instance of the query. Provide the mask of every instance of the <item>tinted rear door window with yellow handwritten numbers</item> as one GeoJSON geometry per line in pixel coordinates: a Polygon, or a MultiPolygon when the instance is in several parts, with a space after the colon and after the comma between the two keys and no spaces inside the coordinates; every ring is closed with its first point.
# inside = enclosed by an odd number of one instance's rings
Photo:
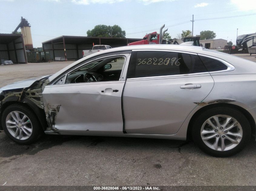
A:
{"type": "Polygon", "coordinates": [[[135,51],[131,55],[127,78],[181,75],[208,72],[198,55],[135,51]]]}

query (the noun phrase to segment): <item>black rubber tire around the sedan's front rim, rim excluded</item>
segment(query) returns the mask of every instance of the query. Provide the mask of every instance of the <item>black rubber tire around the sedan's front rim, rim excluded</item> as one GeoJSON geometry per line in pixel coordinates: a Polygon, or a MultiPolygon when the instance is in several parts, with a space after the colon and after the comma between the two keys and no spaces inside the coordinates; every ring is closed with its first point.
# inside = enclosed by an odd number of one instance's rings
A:
{"type": "Polygon", "coordinates": [[[42,134],[42,127],[41,127],[40,123],[38,122],[38,118],[36,117],[35,113],[32,112],[27,107],[19,105],[19,104],[13,104],[13,105],[6,107],[2,113],[1,121],[2,121],[2,127],[3,127],[6,135],[18,144],[22,144],[22,145],[31,144],[31,143],[35,142],[36,140],[38,140],[38,138],[42,134]],[[13,135],[11,135],[11,133],[8,131],[8,129],[6,127],[6,123],[5,123],[6,118],[9,113],[14,112],[14,111],[24,113],[30,120],[29,123],[32,124],[32,133],[31,133],[30,137],[28,137],[25,140],[20,140],[18,138],[15,138],[13,135]]]}

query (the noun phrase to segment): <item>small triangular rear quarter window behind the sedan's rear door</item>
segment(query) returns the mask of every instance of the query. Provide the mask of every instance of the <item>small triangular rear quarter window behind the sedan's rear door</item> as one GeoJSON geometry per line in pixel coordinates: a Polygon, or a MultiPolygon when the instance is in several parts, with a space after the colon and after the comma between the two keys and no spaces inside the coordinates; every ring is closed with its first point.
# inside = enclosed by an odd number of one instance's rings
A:
{"type": "Polygon", "coordinates": [[[199,56],[199,57],[209,72],[215,72],[215,71],[221,71],[221,70],[228,69],[228,66],[226,66],[221,61],[218,61],[218,60],[212,59],[212,58],[208,58],[205,56],[199,56]]]}

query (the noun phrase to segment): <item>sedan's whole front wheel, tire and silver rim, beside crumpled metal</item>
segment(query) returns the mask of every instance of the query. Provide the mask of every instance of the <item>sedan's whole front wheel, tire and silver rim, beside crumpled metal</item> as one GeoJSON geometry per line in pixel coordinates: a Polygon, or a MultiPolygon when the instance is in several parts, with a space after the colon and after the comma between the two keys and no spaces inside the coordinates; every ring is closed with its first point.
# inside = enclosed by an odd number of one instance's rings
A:
{"type": "Polygon", "coordinates": [[[2,114],[1,121],[8,137],[19,144],[35,142],[41,132],[35,114],[22,105],[8,106],[2,114]]]}

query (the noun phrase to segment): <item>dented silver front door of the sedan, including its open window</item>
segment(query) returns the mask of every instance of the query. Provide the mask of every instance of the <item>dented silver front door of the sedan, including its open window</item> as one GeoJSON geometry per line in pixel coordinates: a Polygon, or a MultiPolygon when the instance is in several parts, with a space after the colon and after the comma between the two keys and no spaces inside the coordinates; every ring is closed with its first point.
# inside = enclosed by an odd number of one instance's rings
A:
{"type": "Polygon", "coordinates": [[[125,79],[120,75],[127,57],[118,58],[120,57],[103,58],[86,64],[69,72],[66,84],[45,87],[45,111],[49,115],[52,111],[56,112],[54,119],[51,119],[54,126],[52,129],[61,134],[75,135],[122,132],[121,96],[125,79]],[[107,64],[108,67],[105,67],[107,64]],[[109,69],[110,64],[113,73],[109,69]],[[88,69],[87,65],[92,67],[88,69]],[[108,72],[103,68],[108,68],[108,72]],[[109,78],[103,77],[106,73],[111,76],[119,74],[119,77],[115,81],[109,81],[109,78]]]}

